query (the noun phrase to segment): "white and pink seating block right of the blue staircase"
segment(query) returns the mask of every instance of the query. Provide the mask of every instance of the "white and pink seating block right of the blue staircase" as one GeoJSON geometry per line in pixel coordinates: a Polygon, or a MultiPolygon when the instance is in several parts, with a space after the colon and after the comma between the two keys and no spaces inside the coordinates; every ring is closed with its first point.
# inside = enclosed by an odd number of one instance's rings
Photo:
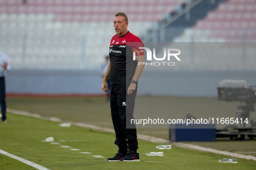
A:
{"type": "MultiPolygon", "coordinates": [[[[196,51],[200,50],[196,48],[194,57],[191,58],[190,53],[184,55],[184,60],[193,60],[193,68],[255,70],[253,64],[256,63],[255,28],[256,0],[227,0],[220,3],[217,9],[208,12],[206,17],[198,20],[192,28],[186,28],[183,35],[175,38],[174,41],[194,41],[202,46],[201,49],[204,51],[196,51]],[[212,43],[208,43],[207,46],[207,43],[200,42],[212,43]],[[197,52],[201,55],[196,55],[197,52]]],[[[186,67],[191,68],[191,64],[183,63],[183,66],[179,66],[179,68],[186,67]]]]}

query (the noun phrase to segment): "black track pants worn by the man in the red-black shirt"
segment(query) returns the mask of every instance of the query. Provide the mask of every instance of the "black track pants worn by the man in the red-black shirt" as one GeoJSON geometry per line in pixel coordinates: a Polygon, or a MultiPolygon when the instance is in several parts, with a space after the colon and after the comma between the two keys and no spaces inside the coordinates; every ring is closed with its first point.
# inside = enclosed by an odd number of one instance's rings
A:
{"type": "Polygon", "coordinates": [[[116,132],[115,144],[122,152],[127,152],[127,148],[132,151],[138,149],[136,126],[129,125],[129,128],[132,129],[126,128],[126,116],[128,124],[130,119],[133,119],[137,84],[136,91],[130,95],[127,94],[128,86],[126,84],[111,84],[110,89],[111,117],[116,132]]]}

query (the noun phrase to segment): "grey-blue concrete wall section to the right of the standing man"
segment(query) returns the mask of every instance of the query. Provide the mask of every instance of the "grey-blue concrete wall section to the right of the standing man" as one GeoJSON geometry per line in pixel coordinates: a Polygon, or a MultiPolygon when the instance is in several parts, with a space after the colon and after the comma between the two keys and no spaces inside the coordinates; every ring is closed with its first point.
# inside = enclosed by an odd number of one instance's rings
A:
{"type": "Polygon", "coordinates": [[[256,85],[256,71],[172,71],[143,72],[139,92],[151,95],[217,97],[224,79],[244,79],[256,85]]]}

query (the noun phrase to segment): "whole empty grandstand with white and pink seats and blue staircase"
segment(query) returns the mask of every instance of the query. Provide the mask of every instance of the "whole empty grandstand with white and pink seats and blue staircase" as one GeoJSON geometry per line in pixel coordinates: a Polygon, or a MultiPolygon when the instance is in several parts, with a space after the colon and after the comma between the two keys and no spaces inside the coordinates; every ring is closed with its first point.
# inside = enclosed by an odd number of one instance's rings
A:
{"type": "Polygon", "coordinates": [[[0,0],[0,51],[14,69],[100,69],[117,11],[144,42],[241,42],[217,57],[181,45],[194,50],[172,69],[255,68],[256,0],[0,0]]]}

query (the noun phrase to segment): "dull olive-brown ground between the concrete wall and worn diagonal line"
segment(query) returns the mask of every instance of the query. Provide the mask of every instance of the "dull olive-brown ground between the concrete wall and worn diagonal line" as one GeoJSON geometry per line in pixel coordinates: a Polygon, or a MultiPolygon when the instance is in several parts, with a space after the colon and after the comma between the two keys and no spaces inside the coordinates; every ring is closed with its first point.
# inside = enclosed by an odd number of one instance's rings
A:
{"type": "MultiPolygon", "coordinates": [[[[110,115],[110,103],[105,97],[80,97],[80,98],[28,98],[28,97],[7,97],[7,106],[16,110],[26,110],[32,113],[39,113],[43,116],[54,116],[62,120],[90,123],[96,126],[113,129],[110,115]]],[[[172,108],[174,113],[182,118],[187,113],[198,113],[203,115],[225,115],[227,117],[236,116],[235,111],[239,102],[217,101],[217,98],[192,98],[192,97],[152,97],[137,96],[134,115],[138,116],[139,105],[144,105],[154,101],[161,104],[163,109],[172,108]]],[[[149,113],[154,108],[148,106],[143,112],[149,113]]],[[[8,116],[8,114],[7,114],[8,116]]],[[[250,116],[256,119],[256,112],[250,116]]],[[[8,118],[9,119],[9,118],[8,118]]],[[[9,119],[10,120],[10,119],[9,119]]],[[[9,121],[8,120],[8,121],[9,121]]],[[[137,129],[139,134],[156,136],[169,139],[169,129],[137,129]]],[[[256,156],[256,140],[251,141],[227,141],[218,140],[216,142],[189,142],[207,148],[214,148],[221,151],[245,152],[256,156]]]]}

